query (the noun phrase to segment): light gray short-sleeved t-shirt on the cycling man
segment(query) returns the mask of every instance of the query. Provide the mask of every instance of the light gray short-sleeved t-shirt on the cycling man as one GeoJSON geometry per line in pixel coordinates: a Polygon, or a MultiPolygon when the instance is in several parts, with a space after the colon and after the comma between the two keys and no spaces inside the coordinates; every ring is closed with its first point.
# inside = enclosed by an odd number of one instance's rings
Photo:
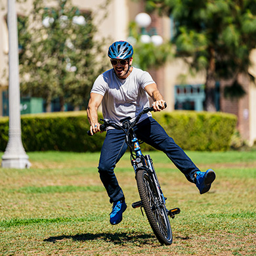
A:
{"type": "MultiPolygon", "coordinates": [[[[104,96],[102,99],[104,119],[119,121],[128,116],[134,118],[143,108],[150,106],[144,88],[151,83],[155,83],[151,75],[139,68],[133,68],[126,79],[119,79],[111,69],[97,77],[91,93],[104,96]]],[[[152,116],[150,112],[142,115],[140,121],[148,116],[152,116]]]]}

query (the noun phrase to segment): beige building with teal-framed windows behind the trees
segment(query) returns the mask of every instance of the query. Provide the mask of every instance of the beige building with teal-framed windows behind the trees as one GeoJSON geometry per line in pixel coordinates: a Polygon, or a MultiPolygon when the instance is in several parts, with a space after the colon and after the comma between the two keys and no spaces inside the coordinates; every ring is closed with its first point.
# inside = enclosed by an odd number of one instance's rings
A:
{"type": "MultiPolygon", "coordinates": [[[[48,1],[51,3],[51,1],[48,1]]],[[[129,0],[72,0],[72,3],[84,11],[92,11],[95,14],[95,24],[98,26],[98,39],[102,37],[110,37],[112,41],[124,40],[129,36],[128,24],[135,20],[135,16],[139,12],[144,12],[143,1],[129,1],[129,0]],[[104,5],[103,9],[99,6],[104,5]],[[108,14],[104,21],[102,18],[108,14]]],[[[6,24],[7,6],[1,3],[0,9],[0,116],[7,115],[7,89],[8,89],[8,29],[6,24]]],[[[18,14],[26,15],[32,8],[32,0],[25,3],[17,3],[18,14]]],[[[156,32],[169,40],[173,35],[173,21],[168,18],[160,18],[156,13],[150,14],[152,23],[150,28],[154,28],[156,32]]],[[[106,50],[108,45],[106,45],[106,50]]],[[[253,53],[252,58],[255,59],[256,53],[253,53]]],[[[252,75],[256,75],[256,63],[249,70],[252,75]]],[[[158,83],[161,93],[168,102],[168,110],[174,109],[190,109],[203,110],[203,85],[205,83],[205,75],[198,74],[196,77],[188,75],[188,68],[181,59],[177,59],[171,64],[159,70],[150,70],[150,74],[158,83]],[[186,75],[185,86],[181,76],[186,75]]],[[[217,95],[217,109],[222,112],[229,112],[238,116],[238,130],[242,137],[246,139],[249,144],[253,144],[256,139],[256,114],[255,114],[255,100],[256,87],[251,81],[247,81],[241,77],[247,95],[240,100],[226,100],[223,97],[223,87],[227,81],[220,81],[218,84],[219,90],[217,95]]],[[[22,105],[22,108],[26,106],[22,105]]],[[[24,109],[23,109],[24,110],[24,109]]]]}

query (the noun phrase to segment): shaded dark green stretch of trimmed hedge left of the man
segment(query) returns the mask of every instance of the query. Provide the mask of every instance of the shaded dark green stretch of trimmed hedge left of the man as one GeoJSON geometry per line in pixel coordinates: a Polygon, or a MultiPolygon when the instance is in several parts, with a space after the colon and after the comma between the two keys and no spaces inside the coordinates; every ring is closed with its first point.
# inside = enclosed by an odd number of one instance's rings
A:
{"type": "MultiPolygon", "coordinates": [[[[100,115],[99,115],[100,116],[100,115]]],[[[102,118],[102,116],[100,116],[102,118]]],[[[97,151],[102,146],[104,133],[89,137],[86,112],[54,112],[22,115],[22,143],[30,151],[97,151]]],[[[8,142],[9,121],[0,119],[0,151],[8,142]]]]}

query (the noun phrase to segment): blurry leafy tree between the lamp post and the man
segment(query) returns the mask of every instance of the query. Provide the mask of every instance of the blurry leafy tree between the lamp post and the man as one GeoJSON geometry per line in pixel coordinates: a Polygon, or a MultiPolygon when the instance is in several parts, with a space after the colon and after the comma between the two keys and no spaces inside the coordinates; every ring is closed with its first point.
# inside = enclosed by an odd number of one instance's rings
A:
{"type": "Polygon", "coordinates": [[[91,12],[81,12],[70,0],[55,0],[45,7],[33,2],[28,17],[18,17],[20,87],[22,94],[73,106],[87,104],[96,76],[106,69],[102,45],[95,41],[91,12]],[[100,64],[97,64],[97,61],[100,64]]]}

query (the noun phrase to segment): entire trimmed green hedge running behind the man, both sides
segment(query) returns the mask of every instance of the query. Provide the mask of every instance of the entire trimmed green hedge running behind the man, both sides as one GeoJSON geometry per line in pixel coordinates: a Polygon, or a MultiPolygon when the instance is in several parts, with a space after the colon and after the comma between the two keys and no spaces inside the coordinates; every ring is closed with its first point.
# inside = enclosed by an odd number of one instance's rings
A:
{"type": "MultiPolygon", "coordinates": [[[[154,117],[184,150],[228,150],[237,121],[236,116],[219,112],[160,112],[154,117]]],[[[105,137],[105,133],[87,135],[89,123],[85,111],[23,115],[21,125],[27,152],[95,152],[100,151],[105,137]]],[[[0,118],[0,151],[5,151],[8,131],[9,119],[0,118]]],[[[142,145],[146,150],[152,149],[142,145]]]]}

